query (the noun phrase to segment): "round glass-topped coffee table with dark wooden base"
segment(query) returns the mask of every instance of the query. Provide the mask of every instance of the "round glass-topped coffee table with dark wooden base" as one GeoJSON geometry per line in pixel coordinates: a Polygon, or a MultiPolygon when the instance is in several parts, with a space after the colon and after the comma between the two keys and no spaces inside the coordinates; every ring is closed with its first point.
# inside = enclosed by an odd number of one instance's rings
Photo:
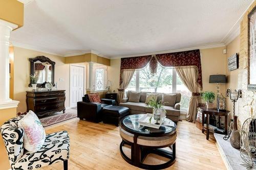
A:
{"type": "Polygon", "coordinates": [[[120,120],[120,153],[123,159],[144,169],[163,169],[171,166],[176,160],[176,124],[165,118],[159,129],[140,126],[138,120],[145,114],[129,115],[120,120]],[[172,127],[174,125],[174,127],[172,127]],[[123,146],[130,145],[131,158],[123,152],[123,146]],[[168,147],[169,151],[163,148],[168,147]],[[156,154],[168,158],[162,164],[144,164],[148,154],[156,154]]]}

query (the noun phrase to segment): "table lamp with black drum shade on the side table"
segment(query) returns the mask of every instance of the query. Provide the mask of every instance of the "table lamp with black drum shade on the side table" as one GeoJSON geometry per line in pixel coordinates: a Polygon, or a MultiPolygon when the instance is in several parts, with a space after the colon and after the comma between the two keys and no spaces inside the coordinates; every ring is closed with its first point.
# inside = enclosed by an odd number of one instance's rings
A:
{"type": "Polygon", "coordinates": [[[222,101],[222,104],[220,104],[220,85],[219,85],[219,83],[226,83],[226,75],[210,75],[209,83],[217,83],[217,109],[226,110],[225,101],[222,101]]]}

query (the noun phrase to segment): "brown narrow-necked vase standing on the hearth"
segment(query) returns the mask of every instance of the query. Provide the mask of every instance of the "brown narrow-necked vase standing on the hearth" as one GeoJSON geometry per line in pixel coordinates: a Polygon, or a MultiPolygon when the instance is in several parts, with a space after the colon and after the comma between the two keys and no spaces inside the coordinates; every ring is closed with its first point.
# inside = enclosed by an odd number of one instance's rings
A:
{"type": "Polygon", "coordinates": [[[240,149],[240,132],[238,130],[238,116],[233,116],[234,120],[230,124],[232,129],[229,141],[233,148],[240,149]]]}

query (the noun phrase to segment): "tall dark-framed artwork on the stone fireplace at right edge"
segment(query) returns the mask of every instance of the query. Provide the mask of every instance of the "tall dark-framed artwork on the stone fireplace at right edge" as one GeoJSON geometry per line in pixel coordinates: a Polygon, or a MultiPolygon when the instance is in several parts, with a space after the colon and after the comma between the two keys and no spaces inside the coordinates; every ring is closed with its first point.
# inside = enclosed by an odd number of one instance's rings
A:
{"type": "Polygon", "coordinates": [[[248,14],[248,90],[256,90],[256,7],[248,14]]]}

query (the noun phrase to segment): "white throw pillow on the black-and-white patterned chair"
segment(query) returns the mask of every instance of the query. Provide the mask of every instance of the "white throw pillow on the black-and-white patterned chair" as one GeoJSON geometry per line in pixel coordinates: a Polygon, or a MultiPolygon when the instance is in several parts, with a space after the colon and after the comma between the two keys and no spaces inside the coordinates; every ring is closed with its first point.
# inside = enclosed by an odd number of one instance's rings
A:
{"type": "Polygon", "coordinates": [[[36,114],[30,110],[19,120],[18,127],[24,130],[24,148],[29,152],[37,152],[45,142],[46,132],[36,114]]]}

